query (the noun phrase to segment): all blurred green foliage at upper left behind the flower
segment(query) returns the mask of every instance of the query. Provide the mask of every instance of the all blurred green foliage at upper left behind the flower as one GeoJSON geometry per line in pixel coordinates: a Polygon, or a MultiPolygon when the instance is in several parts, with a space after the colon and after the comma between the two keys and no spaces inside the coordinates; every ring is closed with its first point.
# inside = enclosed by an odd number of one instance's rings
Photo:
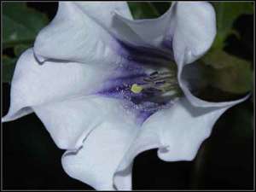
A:
{"type": "Polygon", "coordinates": [[[38,32],[49,22],[46,15],[24,2],[3,3],[3,82],[10,82],[20,54],[32,47],[38,32]],[[14,53],[12,58],[8,52],[14,53]]]}

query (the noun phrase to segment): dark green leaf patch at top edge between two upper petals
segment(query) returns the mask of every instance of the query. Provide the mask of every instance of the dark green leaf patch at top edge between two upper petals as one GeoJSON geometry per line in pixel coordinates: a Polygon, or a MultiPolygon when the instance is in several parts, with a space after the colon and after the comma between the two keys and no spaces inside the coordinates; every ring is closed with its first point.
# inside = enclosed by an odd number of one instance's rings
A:
{"type": "Polygon", "coordinates": [[[131,15],[134,19],[149,19],[160,16],[154,4],[150,2],[128,2],[131,15]]]}

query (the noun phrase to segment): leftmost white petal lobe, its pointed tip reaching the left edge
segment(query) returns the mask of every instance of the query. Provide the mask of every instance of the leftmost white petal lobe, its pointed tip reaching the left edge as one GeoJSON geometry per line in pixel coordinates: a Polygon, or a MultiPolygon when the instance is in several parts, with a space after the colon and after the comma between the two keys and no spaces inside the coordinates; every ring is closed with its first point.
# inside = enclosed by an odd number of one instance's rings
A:
{"type": "Polygon", "coordinates": [[[17,119],[32,110],[29,107],[86,96],[96,90],[109,71],[67,62],[51,61],[39,65],[32,49],[26,50],[17,61],[11,83],[9,113],[3,121],[17,119]]]}

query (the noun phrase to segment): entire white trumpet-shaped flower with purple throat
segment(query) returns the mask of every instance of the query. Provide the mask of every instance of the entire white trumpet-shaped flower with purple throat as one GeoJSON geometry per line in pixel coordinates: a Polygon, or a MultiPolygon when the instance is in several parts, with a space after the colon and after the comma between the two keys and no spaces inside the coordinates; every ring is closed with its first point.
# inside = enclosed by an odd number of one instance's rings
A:
{"type": "Polygon", "coordinates": [[[209,3],[172,3],[154,20],[133,20],[124,2],[60,3],[17,62],[3,121],[35,112],[67,149],[68,175],[131,189],[137,154],[159,148],[161,160],[193,160],[218,117],[246,99],[206,102],[190,91],[196,73],[185,71],[215,34],[209,3]]]}

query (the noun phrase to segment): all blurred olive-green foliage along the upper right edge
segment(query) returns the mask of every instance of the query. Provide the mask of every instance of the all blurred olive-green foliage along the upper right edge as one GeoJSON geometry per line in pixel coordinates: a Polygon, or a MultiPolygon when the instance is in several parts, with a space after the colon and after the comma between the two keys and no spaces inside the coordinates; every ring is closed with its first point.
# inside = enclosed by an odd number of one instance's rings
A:
{"type": "Polygon", "coordinates": [[[208,66],[210,84],[220,90],[234,94],[244,94],[253,90],[253,61],[238,58],[224,51],[226,39],[235,35],[241,40],[241,34],[234,23],[241,15],[253,15],[253,2],[213,2],[217,18],[217,36],[211,50],[202,58],[208,66]]]}

